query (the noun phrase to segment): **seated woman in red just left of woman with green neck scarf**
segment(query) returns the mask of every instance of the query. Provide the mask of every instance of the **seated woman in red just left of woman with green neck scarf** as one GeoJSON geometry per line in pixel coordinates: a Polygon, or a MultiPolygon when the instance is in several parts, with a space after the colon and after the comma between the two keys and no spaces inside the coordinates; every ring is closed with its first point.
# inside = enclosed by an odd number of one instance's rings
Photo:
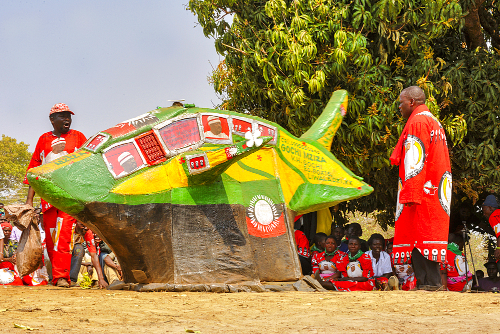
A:
{"type": "Polygon", "coordinates": [[[340,277],[346,270],[347,254],[337,249],[336,239],[329,235],[324,240],[324,251],[312,255],[312,272],[314,278],[326,289],[335,290],[331,280],[340,277]]]}

